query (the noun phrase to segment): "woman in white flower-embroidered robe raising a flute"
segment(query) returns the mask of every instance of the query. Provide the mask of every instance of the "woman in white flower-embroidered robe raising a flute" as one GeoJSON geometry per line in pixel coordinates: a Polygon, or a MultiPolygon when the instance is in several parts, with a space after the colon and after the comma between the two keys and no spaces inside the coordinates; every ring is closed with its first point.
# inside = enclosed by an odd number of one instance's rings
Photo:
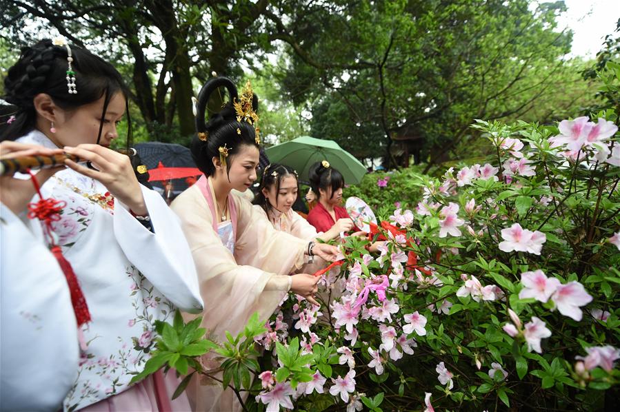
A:
{"type": "Polygon", "coordinates": [[[76,336],[81,359],[64,409],[188,409],[187,398],[170,402],[172,373],[129,385],[150,357],[153,321],[169,320],[177,307],[199,312],[203,302],[176,216],[139,185],[128,156],[108,148],[128,116],[121,75],[88,50],[43,40],[22,50],[4,85],[17,112],[2,140],[62,148],[92,164],[67,160],[41,187],[43,198],[66,203],[52,231],[90,311],[76,336]]]}

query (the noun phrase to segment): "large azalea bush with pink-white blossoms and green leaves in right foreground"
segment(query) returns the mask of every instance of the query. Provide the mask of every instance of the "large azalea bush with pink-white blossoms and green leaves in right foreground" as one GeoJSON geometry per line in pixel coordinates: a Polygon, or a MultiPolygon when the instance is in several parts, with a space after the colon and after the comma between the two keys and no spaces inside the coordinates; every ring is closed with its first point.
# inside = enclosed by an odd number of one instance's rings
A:
{"type": "Polygon", "coordinates": [[[612,409],[617,122],[613,107],[551,126],[478,121],[494,155],[414,176],[417,205],[346,238],[320,306],[290,294],[266,323],[201,350],[214,345],[246,410],[612,409]]]}

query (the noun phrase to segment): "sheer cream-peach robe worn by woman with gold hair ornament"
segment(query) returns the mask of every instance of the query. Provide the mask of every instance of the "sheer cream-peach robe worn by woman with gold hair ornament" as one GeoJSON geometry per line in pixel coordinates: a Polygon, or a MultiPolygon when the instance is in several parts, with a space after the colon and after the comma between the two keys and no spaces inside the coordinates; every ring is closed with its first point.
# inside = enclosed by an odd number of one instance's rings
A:
{"type": "MultiPolygon", "coordinates": [[[[221,341],[225,331],[233,336],[242,331],[252,313],[258,312],[264,320],[272,315],[290,289],[288,275],[305,262],[308,241],[276,231],[248,200],[230,193],[233,252],[218,233],[227,231],[219,230],[223,226],[214,218],[213,199],[210,178],[202,176],[171,207],[181,218],[196,263],[205,302],[201,326],[209,338],[221,341]]],[[[241,408],[234,393],[223,391],[219,382],[194,377],[187,391],[194,411],[241,408]]]]}

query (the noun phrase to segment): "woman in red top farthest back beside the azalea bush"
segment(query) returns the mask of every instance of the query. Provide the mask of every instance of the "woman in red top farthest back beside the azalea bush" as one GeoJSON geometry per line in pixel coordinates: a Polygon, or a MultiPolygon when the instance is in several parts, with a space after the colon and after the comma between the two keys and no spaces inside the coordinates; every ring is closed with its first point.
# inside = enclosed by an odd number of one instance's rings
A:
{"type": "Polygon", "coordinates": [[[328,161],[314,163],[308,171],[308,179],[312,192],[319,196],[317,205],[308,213],[308,223],[317,229],[317,232],[326,232],[334,225],[339,231],[356,229],[342,203],[342,188],[344,178],[337,169],[330,167],[328,161]]]}

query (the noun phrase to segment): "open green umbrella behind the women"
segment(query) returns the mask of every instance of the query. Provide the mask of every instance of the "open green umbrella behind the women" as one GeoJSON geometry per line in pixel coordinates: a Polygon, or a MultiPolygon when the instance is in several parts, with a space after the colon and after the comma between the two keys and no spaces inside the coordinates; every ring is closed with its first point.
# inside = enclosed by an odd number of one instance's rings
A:
{"type": "Polygon", "coordinates": [[[337,169],[347,185],[357,185],[366,174],[366,167],[343,150],[338,143],[322,138],[301,136],[265,150],[271,163],[281,163],[297,170],[299,180],[308,182],[308,169],[314,163],[328,161],[337,169]]]}

